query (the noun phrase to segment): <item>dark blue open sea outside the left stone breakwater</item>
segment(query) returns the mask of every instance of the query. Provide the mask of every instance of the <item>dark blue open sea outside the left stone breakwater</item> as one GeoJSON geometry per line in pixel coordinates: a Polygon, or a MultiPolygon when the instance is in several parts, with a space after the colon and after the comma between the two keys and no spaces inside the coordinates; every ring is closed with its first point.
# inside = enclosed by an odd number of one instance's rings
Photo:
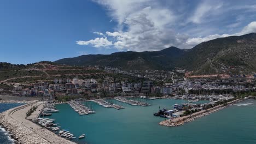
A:
{"type": "MultiPolygon", "coordinates": [[[[0,112],[7,111],[13,107],[20,106],[23,104],[2,104],[0,103],[0,112]]],[[[10,139],[5,129],[1,128],[0,126],[0,143],[14,143],[14,140],[10,139]]]]}

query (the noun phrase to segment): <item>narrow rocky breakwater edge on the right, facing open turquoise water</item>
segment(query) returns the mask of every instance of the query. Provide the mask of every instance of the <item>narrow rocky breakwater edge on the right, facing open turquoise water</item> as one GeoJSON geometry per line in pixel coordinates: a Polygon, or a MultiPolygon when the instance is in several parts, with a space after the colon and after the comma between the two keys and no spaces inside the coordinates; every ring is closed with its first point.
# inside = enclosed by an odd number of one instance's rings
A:
{"type": "Polygon", "coordinates": [[[228,105],[226,105],[226,106],[225,105],[218,105],[218,106],[215,106],[215,107],[213,107],[211,109],[208,109],[207,111],[204,110],[204,111],[200,111],[198,113],[193,113],[193,115],[191,115],[191,116],[184,116],[184,118],[183,117],[173,118],[172,121],[170,121],[170,119],[168,119],[168,120],[160,122],[159,124],[160,125],[164,125],[166,127],[177,127],[179,125],[183,125],[185,123],[194,121],[194,119],[210,115],[213,112],[216,112],[218,110],[222,110],[225,107],[228,107],[230,105],[236,104],[236,103],[238,103],[240,101],[243,101],[243,100],[244,99],[236,99],[236,100],[230,101],[228,103],[228,105]]]}

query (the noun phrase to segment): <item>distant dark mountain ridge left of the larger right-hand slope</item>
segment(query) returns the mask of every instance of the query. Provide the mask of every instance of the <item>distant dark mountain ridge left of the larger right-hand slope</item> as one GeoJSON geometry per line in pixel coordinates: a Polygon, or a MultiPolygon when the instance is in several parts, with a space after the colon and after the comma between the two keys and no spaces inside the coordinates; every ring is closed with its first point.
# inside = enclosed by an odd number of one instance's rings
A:
{"type": "Polygon", "coordinates": [[[103,65],[123,69],[170,69],[174,68],[174,60],[184,55],[177,47],[169,47],[161,51],[115,52],[110,55],[83,55],[64,58],[55,63],[67,65],[103,65]]]}

